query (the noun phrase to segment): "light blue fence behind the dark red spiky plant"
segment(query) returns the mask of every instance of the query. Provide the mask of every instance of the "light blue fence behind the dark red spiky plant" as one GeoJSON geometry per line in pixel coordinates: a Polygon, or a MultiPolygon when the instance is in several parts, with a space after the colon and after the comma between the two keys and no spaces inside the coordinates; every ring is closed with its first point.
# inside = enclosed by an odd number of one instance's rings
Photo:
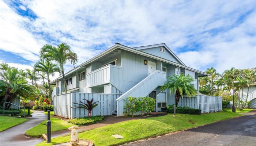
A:
{"type": "Polygon", "coordinates": [[[104,94],[104,93],[84,93],[84,92],[68,92],[54,96],[54,115],[61,116],[68,119],[88,116],[88,111],[83,108],[74,108],[79,105],[74,104],[86,103],[86,100],[93,102],[98,101],[97,107],[93,109],[91,115],[112,115],[112,111],[117,108],[116,99],[121,94],[104,94]],[[73,107],[73,108],[72,108],[73,107]]]}

